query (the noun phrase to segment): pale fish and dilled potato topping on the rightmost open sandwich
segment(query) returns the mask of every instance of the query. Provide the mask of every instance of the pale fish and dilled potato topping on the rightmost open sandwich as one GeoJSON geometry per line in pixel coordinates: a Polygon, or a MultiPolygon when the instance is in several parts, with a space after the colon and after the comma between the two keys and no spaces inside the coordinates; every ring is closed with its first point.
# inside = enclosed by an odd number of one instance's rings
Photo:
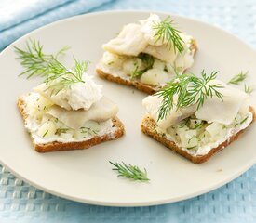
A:
{"type": "Polygon", "coordinates": [[[174,98],[174,108],[164,119],[158,120],[162,99],[148,96],[142,104],[147,115],[155,120],[155,130],[159,134],[192,155],[204,155],[248,127],[253,119],[249,112],[249,96],[219,80],[211,84],[217,83],[222,85],[219,91],[223,101],[207,98],[199,110],[196,105],[177,110],[177,98],[174,98]]]}

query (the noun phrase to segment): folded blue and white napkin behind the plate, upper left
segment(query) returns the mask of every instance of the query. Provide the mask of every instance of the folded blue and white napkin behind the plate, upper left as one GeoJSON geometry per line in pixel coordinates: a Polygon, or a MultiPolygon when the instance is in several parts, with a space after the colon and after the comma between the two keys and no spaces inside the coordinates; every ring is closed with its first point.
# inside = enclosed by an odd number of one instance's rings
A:
{"type": "Polygon", "coordinates": [[[25,33],[74,15],[88,12],[112,0],[1,0],[0,50],[25,33]]]}

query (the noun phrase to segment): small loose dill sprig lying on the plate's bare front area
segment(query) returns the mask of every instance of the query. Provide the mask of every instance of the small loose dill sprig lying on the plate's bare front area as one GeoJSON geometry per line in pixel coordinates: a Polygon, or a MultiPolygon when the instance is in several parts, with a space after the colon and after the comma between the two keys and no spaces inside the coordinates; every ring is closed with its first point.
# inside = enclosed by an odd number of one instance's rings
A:
{"type": "Polygon", "coordinates": [[[127,177],[130,179],[140,180],[140,181],[150,180],[147,177],[147,171],[145,168],[144,170],[141,170],[137,165],[125,164],[124,162],[122,162],[122,164],[119,164],[119,163],[113,163],[109,161],[109,163],[115,166],[113,170],[116,170],[118,172],[117,177],[127,177]]]}

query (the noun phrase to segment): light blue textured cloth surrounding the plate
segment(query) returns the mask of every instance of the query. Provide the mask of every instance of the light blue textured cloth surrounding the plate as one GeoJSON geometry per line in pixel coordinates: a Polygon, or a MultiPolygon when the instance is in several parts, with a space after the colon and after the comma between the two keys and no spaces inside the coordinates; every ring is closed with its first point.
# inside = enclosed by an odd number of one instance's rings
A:
{"type": "MultiPolygon", "coordinates": [[[[88,11],[115,9],[161,10],[208,21],[235,33],[250,46],[256,47],[254,0],[62,0],[55,1],[55,6],[45,4],[30,18],[24,19],[21,15],[20,20],[9,20],[9,23],[0,20],[0,48],[3,49],[22,34],[53,20],[88,11]]],[[[35,189],[0,166],[0,222],[255,223],[256,166],[222,188],[193,199],[135,208],[104,207],[61,199],[35,189]]]]}

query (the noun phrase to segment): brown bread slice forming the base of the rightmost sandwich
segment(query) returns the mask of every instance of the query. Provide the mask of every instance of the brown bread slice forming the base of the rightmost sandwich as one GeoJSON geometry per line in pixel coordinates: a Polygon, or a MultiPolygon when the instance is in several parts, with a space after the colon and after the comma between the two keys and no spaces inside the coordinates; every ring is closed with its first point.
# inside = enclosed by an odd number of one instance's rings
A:
{"type": "MultiPolygon", "coordinates": [[[[252,123],[256,119],[256,114],[255,114],[255,111],[252,107],[249,108],[249,112],[251,112],[252,115],[253,115],[253,119],[251,121],[251,123],[252,123]]],[[[233,135],[231,138],[228,138],[226,141],[222,142],[222,144],[220,144],[218,147],[212,148],[207,154],[205,154],[205,155],[196,155],[196,156],[188,153],[185,150],[182,150],[182,148],[177,146],[174,141],[170,141],[164,135],[157,133],[156,130],[155,130],[155,121],[153,119],[149,118],[149,117],[145,117],[142,120],[141,130],[144,134],[146,134],[146,135],[148,135],[152,138],[155,138],[155,140],[164,144],[166,147],[168,147],[172,151],[175,151],[175,152],[179,153],[180,155],[182,155],[183,157],[189,159],[193,163],[201,164],[201,163],[204,163],[204,162],[208,161],[209,158],[212,157],[215,153],[217,153],[218,151],[222,151],[230,143],[235,141],[241,135],[241,133],[244,132],[245,129],[240,130],[239,132],[236,133],[236,135],[233,135]]]]}

